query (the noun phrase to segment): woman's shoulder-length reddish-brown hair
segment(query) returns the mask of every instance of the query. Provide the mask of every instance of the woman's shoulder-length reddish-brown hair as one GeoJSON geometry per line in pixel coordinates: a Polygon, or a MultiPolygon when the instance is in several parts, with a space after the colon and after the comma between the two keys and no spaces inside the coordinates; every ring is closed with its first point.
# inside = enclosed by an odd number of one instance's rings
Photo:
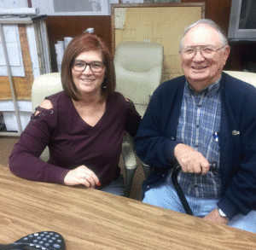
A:
{"type": "Polygon", "coordinates": [[[65,93],[74,101],[79,101],[79,90],[73,83],[73,61],[84,51],[101,51],[105,65],[105,78],[102,83],[103,95],[107,99],[116,87],[113,58],[105,41],[95,33],[82,33],[67,45],[61,63],[61,84],[65,93]]]}

